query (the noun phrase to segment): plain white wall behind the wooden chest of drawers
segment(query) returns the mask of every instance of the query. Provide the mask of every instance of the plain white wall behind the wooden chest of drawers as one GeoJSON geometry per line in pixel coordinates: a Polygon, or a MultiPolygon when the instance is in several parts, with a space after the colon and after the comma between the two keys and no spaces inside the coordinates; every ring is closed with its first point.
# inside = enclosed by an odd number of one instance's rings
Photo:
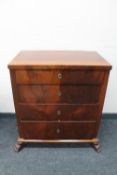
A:
{"type": "Polygon", "coordinates": [[[117,112],[117,0],[0,0],[0,112],[14,112],[7,64],[20,51],[96,50],[112,65],[104,112],[117,112]]]}

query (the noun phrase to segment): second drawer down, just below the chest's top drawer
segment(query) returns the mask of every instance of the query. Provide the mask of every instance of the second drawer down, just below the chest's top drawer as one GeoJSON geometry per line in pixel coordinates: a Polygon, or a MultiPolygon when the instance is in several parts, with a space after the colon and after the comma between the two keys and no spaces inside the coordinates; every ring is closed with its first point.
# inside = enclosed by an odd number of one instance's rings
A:
{"type": "Polygon", "coordinates": [[[19,85],[21,103],[94,104],[100,99],[101,86],[39,86],[19,85]]]}

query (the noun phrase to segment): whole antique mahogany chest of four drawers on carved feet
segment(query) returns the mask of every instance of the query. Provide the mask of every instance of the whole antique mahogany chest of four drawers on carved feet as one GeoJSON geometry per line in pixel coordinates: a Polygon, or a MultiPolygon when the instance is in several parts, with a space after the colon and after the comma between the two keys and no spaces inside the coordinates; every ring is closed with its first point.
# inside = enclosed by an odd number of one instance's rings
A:
{"type": "Polygon", "coordinates": [[[22,51],[9,64],[19,138],[89,142],[97,138],[111,65],[96,52],[22,51]]]}

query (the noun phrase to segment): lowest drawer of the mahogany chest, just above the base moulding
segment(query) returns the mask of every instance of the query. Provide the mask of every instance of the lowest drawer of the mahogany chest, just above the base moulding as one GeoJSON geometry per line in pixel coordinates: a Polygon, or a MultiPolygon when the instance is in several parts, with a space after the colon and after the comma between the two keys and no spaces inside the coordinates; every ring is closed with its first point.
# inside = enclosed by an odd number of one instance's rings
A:
{"type": "Polygon", "coordinates": [[[96,137],[95,122],[21,122],[20,137],[24,139],[92,139],[96,137]]]}

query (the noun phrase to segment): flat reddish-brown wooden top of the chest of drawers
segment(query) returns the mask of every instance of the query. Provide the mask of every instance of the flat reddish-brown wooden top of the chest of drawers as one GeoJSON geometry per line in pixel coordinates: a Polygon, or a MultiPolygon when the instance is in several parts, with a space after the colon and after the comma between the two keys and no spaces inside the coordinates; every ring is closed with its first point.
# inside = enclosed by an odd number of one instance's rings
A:
{"type": "Polygon", "coordinates": [[[111,69],[97,52],[22,51],[9,64],[10,69],[111,69]]]}

